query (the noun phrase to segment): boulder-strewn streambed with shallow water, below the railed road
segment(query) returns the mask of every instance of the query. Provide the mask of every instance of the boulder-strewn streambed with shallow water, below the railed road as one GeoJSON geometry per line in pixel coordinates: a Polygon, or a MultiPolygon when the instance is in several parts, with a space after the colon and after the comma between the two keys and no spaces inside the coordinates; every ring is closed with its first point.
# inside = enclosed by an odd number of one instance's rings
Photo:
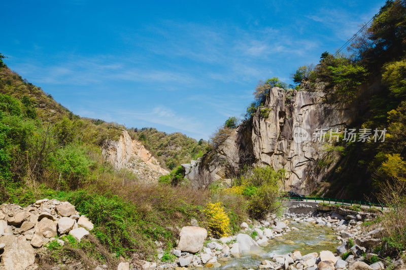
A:
{"type": "MultiPolygon", "coordinates": [[[[144,269],[386,269],[374,253],[381,244],[382,228],[367,232],[362,226],[375,217],[373,213],[319,206],[308,214],[287,212],[282,217],[247,220],[239,234],[206,242],[193,241],[193,232],[202,238],[205,229],[184,227],[179,249],[172,251],[177,259],[172,263],[146,262],[144,269]]],[[[394,262],[395,267],[402,265],[401,260],[394,262]]]]}

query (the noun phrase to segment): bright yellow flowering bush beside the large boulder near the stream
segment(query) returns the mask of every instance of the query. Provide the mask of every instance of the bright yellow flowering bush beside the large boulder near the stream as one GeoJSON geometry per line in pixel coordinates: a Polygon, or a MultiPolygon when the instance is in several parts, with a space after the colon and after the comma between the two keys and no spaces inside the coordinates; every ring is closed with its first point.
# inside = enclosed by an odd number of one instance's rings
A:
{"type": "Polygon", "coordinates": [[[221,207],[221,203],[208,203],[205,210],[209,233],[214,237],[225,237],[230,233],[230,219],[221,207]]]}

